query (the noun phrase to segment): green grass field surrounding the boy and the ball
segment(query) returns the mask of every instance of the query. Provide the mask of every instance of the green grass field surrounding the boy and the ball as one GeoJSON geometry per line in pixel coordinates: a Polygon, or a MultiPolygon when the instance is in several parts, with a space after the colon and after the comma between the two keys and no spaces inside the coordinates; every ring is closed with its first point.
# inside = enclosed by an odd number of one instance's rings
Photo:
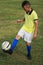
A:
{"type": "Polygon", "coordinates": [[[3,41],[12,43],[23,25],[16,22],[24,16],[22,1],[0,0],[0,65],[43,65],[43,0],[29,0],[39,16],[38,36],[32,42],[32,60],[26,58],[26,44],[22,39],[11,56],[3,53],[1,49],[3,41]]]}

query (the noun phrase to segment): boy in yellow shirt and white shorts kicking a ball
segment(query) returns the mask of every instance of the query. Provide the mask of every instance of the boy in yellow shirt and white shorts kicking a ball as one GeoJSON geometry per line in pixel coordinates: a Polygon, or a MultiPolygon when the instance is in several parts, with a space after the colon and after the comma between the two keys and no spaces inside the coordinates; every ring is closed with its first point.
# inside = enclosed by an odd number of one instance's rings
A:
{"type": "Polygon", "coordinates": [[[23,1],[22,8],[25,11],[25,17],[23,20],[18,20],[17,22],[24,22],[24,25],[18,32],[16,38],[14,39],[11,49],[5,51],[12,54],[14,48],[16,47],[18,40],[22,37],[27,44],[27,58],[31,59],[31,42],[33,38],[37,37],[38,32],[38,16],[37,13],[31,8],[29,1],[23,1]]]}

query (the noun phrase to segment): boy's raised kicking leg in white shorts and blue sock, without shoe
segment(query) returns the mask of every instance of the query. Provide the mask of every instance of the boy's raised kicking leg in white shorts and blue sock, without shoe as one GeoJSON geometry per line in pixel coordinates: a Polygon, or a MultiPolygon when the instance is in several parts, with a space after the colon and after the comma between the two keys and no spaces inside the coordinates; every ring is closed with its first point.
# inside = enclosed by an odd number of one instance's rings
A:
{"type": "Polygon", "coordinates": [[[16,38],[14,39],[14,41],[13,41],[13,43],[11,45],[11,49],[10,50],[12,50],[12,51],[14,50],[14,48],[16,47],[16,45],[18,43],[18,40],[20,38],[23,38],[23,36],[24,36],[24,30],[20,29],[20,31],[18,32],[16,38]]]}

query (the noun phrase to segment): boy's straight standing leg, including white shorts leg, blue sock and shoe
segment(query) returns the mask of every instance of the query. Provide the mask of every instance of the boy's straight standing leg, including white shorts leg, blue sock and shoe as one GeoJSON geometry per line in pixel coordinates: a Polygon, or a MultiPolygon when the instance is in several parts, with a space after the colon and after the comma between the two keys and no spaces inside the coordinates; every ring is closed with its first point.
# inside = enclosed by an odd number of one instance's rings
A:
{"type": "Polygon", "coordinates": [[[27,57],[28,59],[31,59],[31,42],[32,42],[33,34],[25,32],[24,40],[27,44],[27,57]]]}

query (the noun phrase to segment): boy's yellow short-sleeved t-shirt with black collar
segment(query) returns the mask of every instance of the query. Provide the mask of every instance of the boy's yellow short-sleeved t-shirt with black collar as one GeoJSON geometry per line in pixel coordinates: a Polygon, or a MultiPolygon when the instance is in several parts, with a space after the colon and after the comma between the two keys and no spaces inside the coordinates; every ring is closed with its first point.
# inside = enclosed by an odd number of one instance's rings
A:
{"type": "Polygon", "coordinates": [[[34,10],[30,15],[25,12],[25,23],[22,26],[22,29],[29,33],[34,33],[35,30],[34,20],[36,19],[38,19],[38,16],[34,10]]]}

